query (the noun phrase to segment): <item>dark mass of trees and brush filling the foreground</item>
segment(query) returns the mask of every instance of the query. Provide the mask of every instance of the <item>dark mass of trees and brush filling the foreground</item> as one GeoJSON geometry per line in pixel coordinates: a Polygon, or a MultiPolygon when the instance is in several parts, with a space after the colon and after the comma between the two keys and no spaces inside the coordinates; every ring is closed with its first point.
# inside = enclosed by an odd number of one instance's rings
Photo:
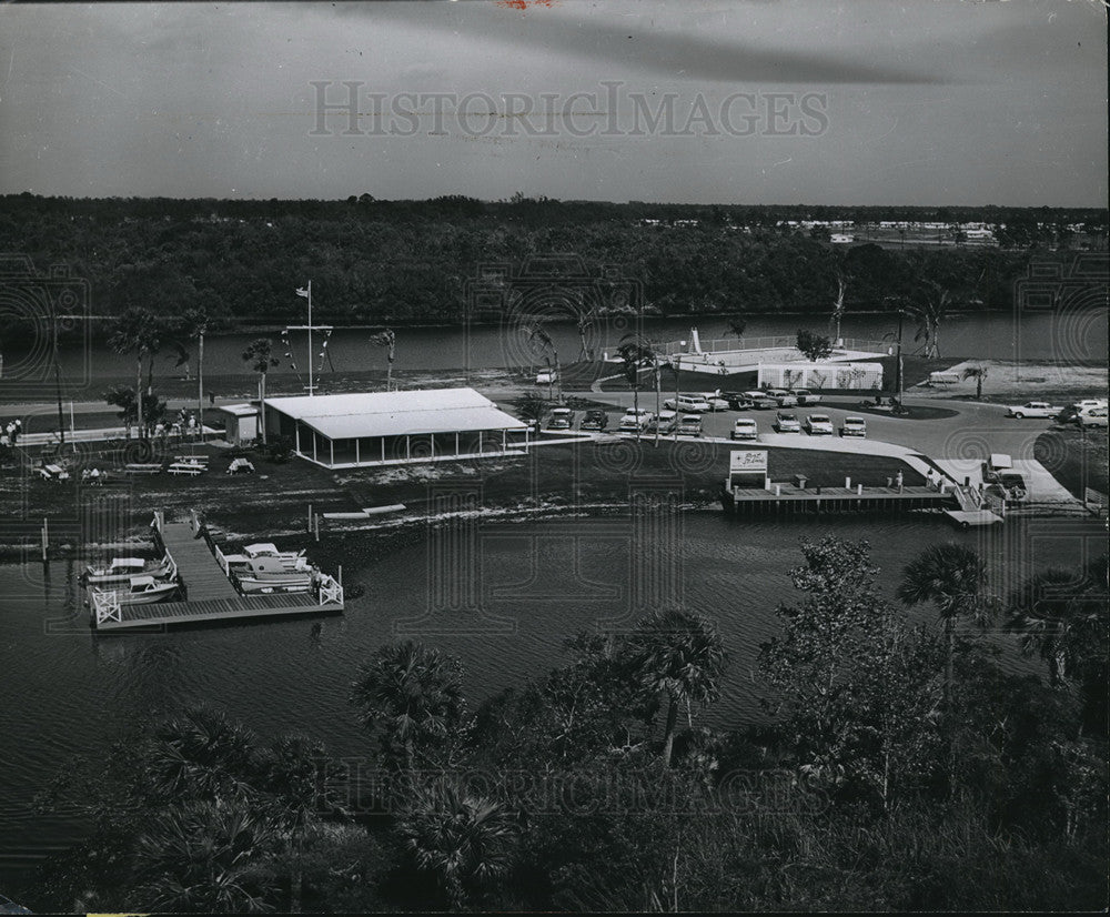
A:
{"type": "Polygon", "coordinates": [[[208,708],[62,769],[89,839],[27,891],[92,910],[1009,910],[1107,905],[1107,560],[1012,595],[955,544],[904,571],[804,541],[756,689],[770,725],[696,725],[728,659],[659,609],[582,633],[472,711],[457,661],[386,645],[352,673],[364,767],[208,708]],[[1001,671],[982,625],[1043,658],[1001,671]]]}

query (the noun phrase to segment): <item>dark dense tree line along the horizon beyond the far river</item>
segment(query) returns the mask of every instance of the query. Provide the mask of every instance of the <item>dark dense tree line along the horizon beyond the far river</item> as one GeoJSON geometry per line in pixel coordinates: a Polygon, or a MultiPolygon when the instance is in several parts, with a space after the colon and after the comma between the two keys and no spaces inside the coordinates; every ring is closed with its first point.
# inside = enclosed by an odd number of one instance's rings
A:
{"type": "MultiPolygon", "coordinates": [[[[115,316],[142,306],[200,310],[236,325],[301,314],[293,291],[314,283],[322,320],[460,322],[478,265],[525,264],[551,252],[581,255],[592,276],[616,265],[642,290],[647,314],[889,310],[935,285],[953,306],[1009,309],[1029,261],[1053,226],[1106,223],[1104,211],[922,209],[915,219],[1000,218],[1009,249],[845,251],[793,216],[884,219],[905,208],[743,208],[607,204],[519,199],[433,201],[81,200],[9,195],[0,251],[40,270],[63,263],[89,281],[90,310],[115,316]],[[696,220],[645,229],[643,214],[696,220]],[[1048,229],[1038,229],[1038,222],[1048,229]]],[[[937,295],[940,295],[939,293],[937,295]]]]}

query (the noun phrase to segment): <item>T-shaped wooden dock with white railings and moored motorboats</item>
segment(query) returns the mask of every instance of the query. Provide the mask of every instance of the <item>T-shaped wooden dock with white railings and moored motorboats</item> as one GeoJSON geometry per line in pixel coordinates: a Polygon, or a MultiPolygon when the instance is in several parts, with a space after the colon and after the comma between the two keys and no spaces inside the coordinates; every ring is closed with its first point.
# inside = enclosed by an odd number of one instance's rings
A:
{"type": "Polygon", "coordinates": [[[181,602],[121,605],[105,593],[92,601],[92,621],[98,631],[169,624],[195,624],[283,615],[337,614],[344,608],[343,586],[322,574],[312,592],[241,595],[216,560],[204,530],[192,522],[167,523],[154,516],[154,531],[167,556],[176,564],[184,587],[181,602]]]}

